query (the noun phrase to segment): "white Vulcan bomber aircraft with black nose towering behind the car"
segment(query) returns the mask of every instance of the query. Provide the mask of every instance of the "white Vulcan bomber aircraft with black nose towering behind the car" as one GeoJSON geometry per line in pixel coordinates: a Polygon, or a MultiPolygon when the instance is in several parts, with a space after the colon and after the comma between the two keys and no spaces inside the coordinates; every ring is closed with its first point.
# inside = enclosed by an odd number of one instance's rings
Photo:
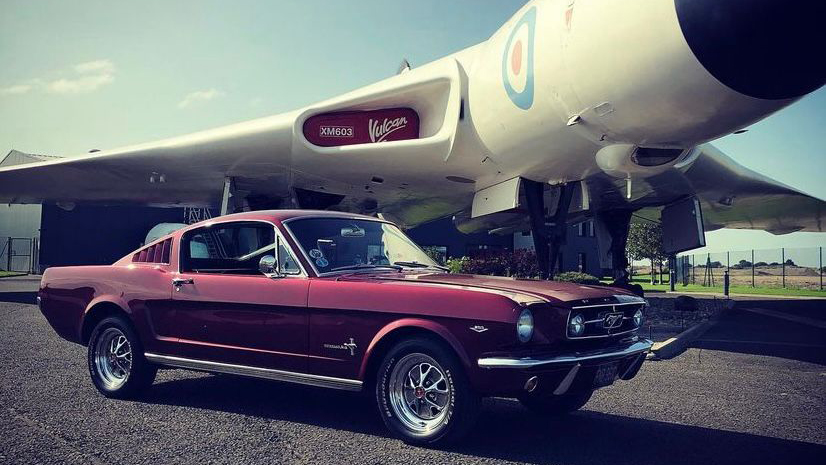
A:
{"type": "Polygon", "coordinates": [[[672,252],[826,229],[822,200],[708,145],[824,84],[823,18],[819,0],[535,0],[485,42],[290,113],[2,168],[0,201],[453,216],[533,231],[546,274],[592,218],[622,278],[632,214],[672,252]]]}

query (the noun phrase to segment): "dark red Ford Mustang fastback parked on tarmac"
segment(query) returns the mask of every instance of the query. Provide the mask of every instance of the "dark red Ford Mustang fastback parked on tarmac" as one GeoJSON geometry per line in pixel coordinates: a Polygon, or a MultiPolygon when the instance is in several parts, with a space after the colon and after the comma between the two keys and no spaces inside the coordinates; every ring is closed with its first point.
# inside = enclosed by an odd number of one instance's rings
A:
{"type": "Polygon", "coordinates": [[[412,443],[460,437],[483,396],[576,410],[651,347],[624,291],[447,274],[393,224],[333,212],[229,215],[110,266],[49,268],[38,302],[106,396],[166,367],[369,390],[412,443]]]}

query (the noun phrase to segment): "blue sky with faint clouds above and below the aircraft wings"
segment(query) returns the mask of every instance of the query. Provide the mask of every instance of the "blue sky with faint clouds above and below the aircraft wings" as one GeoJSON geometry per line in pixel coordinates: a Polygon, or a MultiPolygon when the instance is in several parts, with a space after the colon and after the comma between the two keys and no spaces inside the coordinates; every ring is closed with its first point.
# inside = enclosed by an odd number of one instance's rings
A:
{"type": "MultiPolygon", "coordinates": [[[[75,154],[291,110],[485,40],[521,0],[18,1],[0,15],[0,152],[75,154]]],[[[826,90],[717,145],[820,198],[826,90]]],[[[718,231],[709,249],[826,234],[718,231]]]]}

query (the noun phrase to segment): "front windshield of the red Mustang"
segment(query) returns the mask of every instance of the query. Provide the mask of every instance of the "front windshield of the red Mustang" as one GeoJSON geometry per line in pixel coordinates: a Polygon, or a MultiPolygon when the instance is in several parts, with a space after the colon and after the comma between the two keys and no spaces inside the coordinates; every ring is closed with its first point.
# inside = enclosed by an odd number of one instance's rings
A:
{"type": "Polygon", "coordinates": [[[398,227],[381,221],[300,218],[286,224],[319,273],[441,268],[398,227]]]}

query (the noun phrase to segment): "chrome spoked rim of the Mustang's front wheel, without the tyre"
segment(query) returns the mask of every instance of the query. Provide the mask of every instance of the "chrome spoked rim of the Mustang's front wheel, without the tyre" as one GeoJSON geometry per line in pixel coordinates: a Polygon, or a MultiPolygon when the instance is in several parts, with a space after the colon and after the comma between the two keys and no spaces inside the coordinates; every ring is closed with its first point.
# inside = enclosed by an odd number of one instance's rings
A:
{"type": "Polygon", "coordinates": [[[425,354],[402,357],[393,367],[388,388],[396,417],[417,433],[437,428],[448,416],[453,388],[444,369],[425,354]]]}

